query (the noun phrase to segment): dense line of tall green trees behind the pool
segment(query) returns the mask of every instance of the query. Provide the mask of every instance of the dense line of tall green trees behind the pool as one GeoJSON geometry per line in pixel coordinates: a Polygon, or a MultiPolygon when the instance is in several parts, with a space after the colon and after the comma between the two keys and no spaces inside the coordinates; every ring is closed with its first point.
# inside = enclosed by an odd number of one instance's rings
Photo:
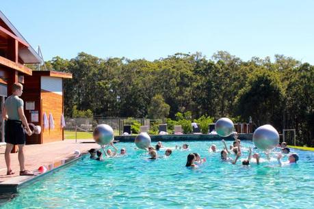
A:
{"type": "Polygon", "coordinates": [[[314,145],[314,66],[292,57],[243,61],[218,51],[210,58],[176,53],[148,61],[79,53],[46,66],[73,74],[64,81],[69,117],[88,109],[105,117],[252,117],[256,126],[272,124],[279,132],[296,128],[299,144],[314,145]]]}

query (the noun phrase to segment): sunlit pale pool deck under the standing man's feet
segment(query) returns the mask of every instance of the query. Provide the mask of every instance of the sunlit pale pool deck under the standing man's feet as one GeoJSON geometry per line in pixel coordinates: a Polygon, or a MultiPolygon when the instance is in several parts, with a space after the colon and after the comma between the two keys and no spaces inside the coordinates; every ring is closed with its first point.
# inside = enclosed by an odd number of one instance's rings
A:
{"type": "MultiPolygon", "coordinates": [[[[37,171],[42,165],[49,170],[75,160],[75,150],[79,150],[81,154],[88,152],[91,148],[99,148],[99,145],[91,140],[64,140],[52,143],[26,145],[25,146],[25,168],[37,171]],[[84,143],[88,142],[88,143],[84,143]]],[[[16,192],[17,187],[24,182],[34,178],[34,176],[19,176],[20,167],[18,164],[18,154],[11,154],[11,167],[15,172],[13,175],[7,176],[7,168],[4,160],[5,145],[0,146],[0,193],[16,192]]]]}

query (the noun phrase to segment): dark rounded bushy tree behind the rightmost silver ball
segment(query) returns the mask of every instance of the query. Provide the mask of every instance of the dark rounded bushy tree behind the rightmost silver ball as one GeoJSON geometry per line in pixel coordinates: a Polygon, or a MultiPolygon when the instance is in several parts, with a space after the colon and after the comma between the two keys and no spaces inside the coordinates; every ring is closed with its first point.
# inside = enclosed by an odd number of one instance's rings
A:
{"type": "Polygon", "coordinates": [[[252,116],[258,126],[273,124],[282,130],[284,98],[278,74],[260,69],[250,76],[246,87],[239,92],[237,113],[243,120],[252,116]]]}

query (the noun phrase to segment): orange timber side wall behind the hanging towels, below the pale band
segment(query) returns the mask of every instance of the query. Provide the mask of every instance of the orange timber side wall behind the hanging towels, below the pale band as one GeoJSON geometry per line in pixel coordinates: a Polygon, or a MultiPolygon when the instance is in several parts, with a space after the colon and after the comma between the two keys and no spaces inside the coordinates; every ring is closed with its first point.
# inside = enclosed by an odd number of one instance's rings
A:
{"type": "Polygon", "coordinates": [[[52,113],[55,121],[54,129],[42,128],[42,143],[63,140],[63,129],[61,128],[61,115],[63,113],[62,95],[53,92],[41,93],[42,98],[42,114],[47,114],[49,121],[49,113],[52,113]]]}

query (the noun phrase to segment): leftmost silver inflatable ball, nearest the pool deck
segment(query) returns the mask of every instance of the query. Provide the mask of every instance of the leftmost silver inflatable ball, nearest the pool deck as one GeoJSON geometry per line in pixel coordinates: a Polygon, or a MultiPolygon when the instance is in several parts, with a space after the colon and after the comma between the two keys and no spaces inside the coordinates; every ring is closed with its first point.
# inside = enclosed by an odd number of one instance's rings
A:
{"type": "Polygon", "coordinates": [[[99,145],[107,145],[114,140],[114,130],[107,124],[96,126],[92,135],[99,145]]]}

